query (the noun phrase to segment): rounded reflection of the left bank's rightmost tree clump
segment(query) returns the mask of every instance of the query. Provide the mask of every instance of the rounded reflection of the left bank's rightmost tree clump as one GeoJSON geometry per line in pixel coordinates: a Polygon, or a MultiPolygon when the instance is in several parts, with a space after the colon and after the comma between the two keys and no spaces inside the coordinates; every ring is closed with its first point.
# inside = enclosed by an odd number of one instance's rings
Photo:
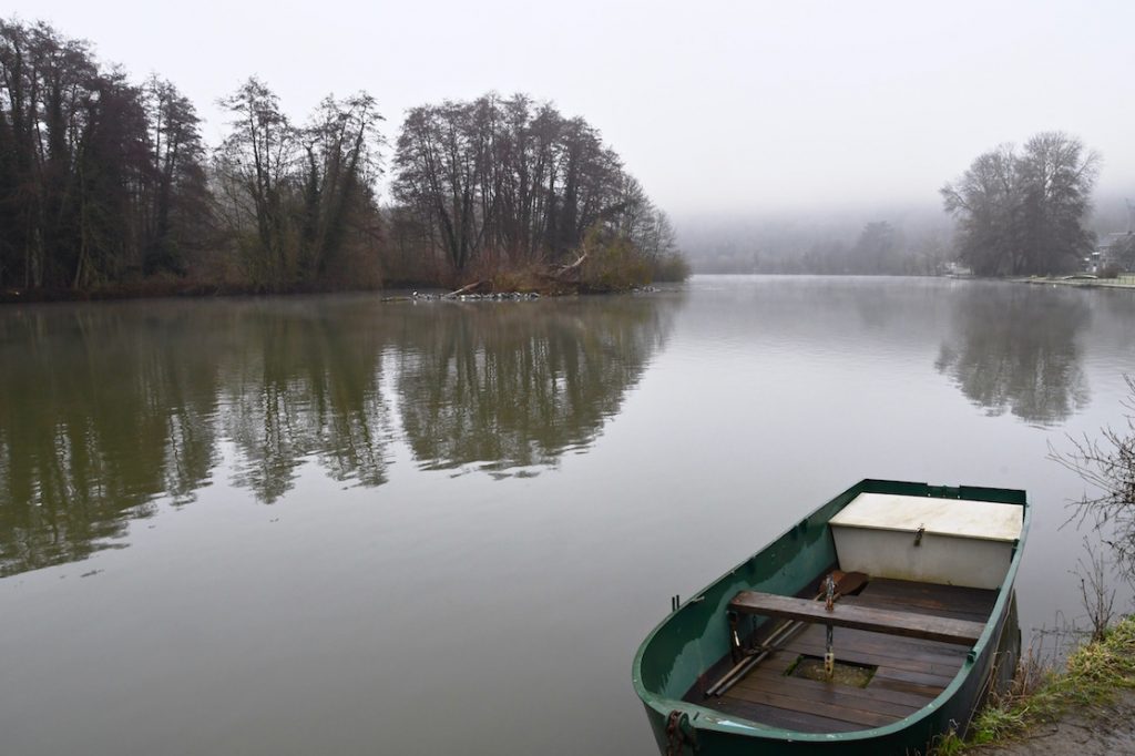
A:
{"type": "Polygon", "coordinates": [[[435,308],[398,375],[402,422],[427,467],[554,464],[591,443],[669,331],[656,301],[435,308]]]}

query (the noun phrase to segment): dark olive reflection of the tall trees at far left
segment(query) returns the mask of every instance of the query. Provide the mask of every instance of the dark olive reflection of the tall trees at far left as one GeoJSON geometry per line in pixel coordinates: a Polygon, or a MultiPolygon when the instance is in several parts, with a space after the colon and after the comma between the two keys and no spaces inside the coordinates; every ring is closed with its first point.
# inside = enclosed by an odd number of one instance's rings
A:
{"type": "Polygon", "coordinates": [[[216,461],[212,371],[178,317],[36,310],[0,320],[0,574],[83,558],[185,498],[216,461]]]}

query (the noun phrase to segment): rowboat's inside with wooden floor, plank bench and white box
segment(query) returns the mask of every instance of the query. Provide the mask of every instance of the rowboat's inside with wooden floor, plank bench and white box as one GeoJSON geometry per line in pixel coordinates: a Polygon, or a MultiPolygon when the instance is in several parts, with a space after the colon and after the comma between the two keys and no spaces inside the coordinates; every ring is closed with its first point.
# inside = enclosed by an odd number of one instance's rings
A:
{"type": "Polygon", "coordinates": [[[886,725],[934,700],[990,622],[1022,510],[902,498],[861,494],[833,518],[836,562],[796,596],[739,591],[729,653],[684,700],[815,733],[886,725]]]}

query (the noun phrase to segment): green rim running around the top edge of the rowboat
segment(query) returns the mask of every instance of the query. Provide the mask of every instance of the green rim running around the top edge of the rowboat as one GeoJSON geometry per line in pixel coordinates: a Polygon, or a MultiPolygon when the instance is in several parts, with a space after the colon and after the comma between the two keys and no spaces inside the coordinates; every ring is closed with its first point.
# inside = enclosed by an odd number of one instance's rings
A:
{"type": "MultiPolygon", "coordinates": [[[[731,574],[735,574],[738,571],[743,569],[746,564],[751,562],[755,557],[763,554],[766,549],[768,549],[774,544],[779,543],[782,538],[788,537],[792,532],[792,530],[797,527],[796,524],[790,526],[779,536],[772,538],[767,544],[765,544],[765,546],[763,546],[759,551],[747,557],[745,561],[739,562],[732,569],[723,572],[716,580],[701,588],[701,590],[697,591],[691,598],[688,598],[686,602],[682,602],[675,610],[673,610],[672,612],[670,612],[670,614],[663,618],[663,620],[654,628],[654,630],[651,630],[650,633],[647,635],[647,637],[639,645],[639,648],[634,654],[634,662],[631,675],[634,686],[634,691],[638,695],[639,699],[645,705],[649,706],[656,713],[662,715],[663,717],[667,716],[670,712],[673,711],[683,712],[684,714],[687,714],[687,716],[689,716],[690,723],[697,730],[708,730],[708,731],[721,732],[724,734],[763,738],[766,740],[777,740],[784,742],[793,742],[793,741],[832,742],[839,740],[858,741],[858,740],[873,740],[876,738],[884,738],[901,732],[902,730],[906,730],[911,725],[920,722],[922,720],[931,716],[940,707],[945,705],[947,702],[952,699],[953,696],[957,695],[961,686],[966,682],[969,674],[973,672],[974,664],[985,652],[986,646],[989,646],[990,641],[993,638],[994,630],[1002,624],[1003,618],[1006,616],[1006,612],[1008,611],[1008,603],[1011,600],[1012,597],[1012,588],[1017,579],[1017,571],[1018,568],[1020,566],[1020,560],[1024,554],[1025,539],[1028,536],[1028,529],[1032,521],[1032,506],[1028,504],[1027,492],[1016,488],[991,488],[981,486],[943,487],[943,486],[931,486],[925,482],[911,484],[908,481],[866,478],[855,484],[847,490],[838,494],[836,496],[833,496],[827,502],[824,502],[815,510],[809,512],[807,515],[805,515],[804,519],[810,518],[813,514],[823,510],[825,506],[827,506],[835,499],[840,498],[841,496],[847,496],[852,492],[855,492],[856,494],[863,493],[868,487],[880,484],[884,486],[885,485],[917,486],[926,492],[925,496],[927,498],[961,498],[960,496],[955,496],[952,494],[958,494],[962,489],[968,493],[997,492],[999,494],[1011,494],[1015,497],[1019,497],[1019,502],[1016,501],[1001,502],[1001,503],[1014,504],[1016,506],[1022,507],[1022,524],[1020,524],[1020,536],[1014,541],[1012,558],[1010,560],[1009,568],[1006,571],[1004,580],[1001,582],[1001,587],[998,589],[997,602],[994,602],[993,608],[990,611],[990,615],[989,619],[985,621],[985,628],[982,630],[982,635],[967,652],[966,657],[961,663],[961,666],[958,669],[958,672],[953,675],[953,679],[950,680],[949,684],[945,688],[943,688],[942,691],[938,696],[935,696],[933,700],[927,703],[917,712],[914,712],[900,720],[896,720],[890,724],[884,724],[881,726],[869,728],[865,730],[841,730],[839,732],[825,733],[825,732],[808,732],[802,730],[788,730],[784,728],[771,726],[767,724],[763,724],[760,722],[756,722],[754,720],[747,720],[741,716],[729,715],[725,714],[724,712],[720,712],[708,706],[692,704],[690,702],[682,699],[667,698],[665,696],[657,695],[646,689],[646,687],[642,684],[642,679],[641,679],[642,657],[646,654],[647,648],[649,648],[650,644],[654,641],[655,637],[679,613],[681,613],[683,608],[686,608],[690,604],[700,600],[699,597],[701,597],[704,594],[711,590],[718,582],[725,580],[731,574]]],[[[993,501],[993,499],[974,498],[973,496],[968,496],[967,499],[993,501]]],[[[849,503],[851,499],[849,499],[849,503]]],[[[847,504],[844,504],[844,506],[847,506],[847,504]]],[[[825,526],[830,527],[827,522],[825,522],[825,526]]],[[[1002,543],[1009,543],[1009,541],[1002,541],[1002,543]]]]}

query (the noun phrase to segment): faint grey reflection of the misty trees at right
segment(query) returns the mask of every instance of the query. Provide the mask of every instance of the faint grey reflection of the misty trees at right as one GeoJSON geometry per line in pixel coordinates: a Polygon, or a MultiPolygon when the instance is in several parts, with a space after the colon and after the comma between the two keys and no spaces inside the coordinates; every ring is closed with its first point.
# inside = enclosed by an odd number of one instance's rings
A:
{"type": "Polygon", "coordinates": [[[1066,420],[1087,403],[1077,336],[1090,310],[1079,292],[975,286],[962,293],[955,333],[935,367],[990,414],[1066,420]]]}

